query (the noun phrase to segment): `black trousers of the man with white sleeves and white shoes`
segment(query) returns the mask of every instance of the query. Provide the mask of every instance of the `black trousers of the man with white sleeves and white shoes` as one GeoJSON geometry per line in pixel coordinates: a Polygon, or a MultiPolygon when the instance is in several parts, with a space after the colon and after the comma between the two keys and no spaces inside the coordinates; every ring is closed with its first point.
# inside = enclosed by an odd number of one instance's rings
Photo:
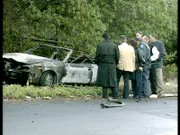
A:
{"type": "Polygon", "coordinates": [[[149,80],[152,94],[157,94],[155,64],[151,64],[149,80]]]}

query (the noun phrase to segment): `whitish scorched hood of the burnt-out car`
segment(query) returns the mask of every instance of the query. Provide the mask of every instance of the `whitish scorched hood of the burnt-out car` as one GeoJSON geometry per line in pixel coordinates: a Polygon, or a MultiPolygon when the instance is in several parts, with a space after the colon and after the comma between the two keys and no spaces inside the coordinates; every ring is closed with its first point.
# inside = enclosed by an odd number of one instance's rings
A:
{"type": "Polygon", "coordinates": [[[49,58],[32,55],[32,54],[26,54],[26,53],[5,53],[3,54],[3,59],[13,59],[17,62],[21,63],[27,63],[27,64],[33,64],[33,63],[39,63],[47,60],[51,60],[49,58]]]}

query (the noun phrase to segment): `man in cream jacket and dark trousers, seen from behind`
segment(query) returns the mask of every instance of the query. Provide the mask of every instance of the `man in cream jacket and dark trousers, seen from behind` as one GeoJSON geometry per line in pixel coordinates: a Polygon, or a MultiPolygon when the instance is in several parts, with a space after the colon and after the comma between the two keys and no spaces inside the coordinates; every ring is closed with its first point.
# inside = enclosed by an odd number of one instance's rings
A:
{"type": "Polygon", "coordinates": [[[117,88],[119,88],[119,81],[123,75],[124,89],[123,98],[129,97],[129,73],[135,70],[135,52],[134,48],[126,43],[125,35],[120,36],[119,48],[119,62],[117,64],[117,88]]]}

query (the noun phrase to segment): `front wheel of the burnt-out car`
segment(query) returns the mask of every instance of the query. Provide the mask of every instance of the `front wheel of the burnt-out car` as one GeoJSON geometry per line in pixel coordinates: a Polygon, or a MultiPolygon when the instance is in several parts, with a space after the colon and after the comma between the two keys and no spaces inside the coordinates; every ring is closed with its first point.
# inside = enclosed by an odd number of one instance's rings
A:
{"type": "Polygon", "coordinates": [[[44,72],[40,78],[40,86],[52,86],[54,83],[54,75],[52,72],[44,72]]]}

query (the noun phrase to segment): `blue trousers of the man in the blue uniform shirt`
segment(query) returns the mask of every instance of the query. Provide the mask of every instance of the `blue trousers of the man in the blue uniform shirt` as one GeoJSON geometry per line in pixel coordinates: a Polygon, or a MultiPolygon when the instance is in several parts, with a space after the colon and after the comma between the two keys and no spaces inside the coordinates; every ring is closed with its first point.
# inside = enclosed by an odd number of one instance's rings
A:
{"type": "Polygon", "coordinates": [[[149,97],[149,73],[150,68],[149,66],[144,65],[143,67],[143,75],[142,75],[142,93],[141,96],[149,97]]]}

